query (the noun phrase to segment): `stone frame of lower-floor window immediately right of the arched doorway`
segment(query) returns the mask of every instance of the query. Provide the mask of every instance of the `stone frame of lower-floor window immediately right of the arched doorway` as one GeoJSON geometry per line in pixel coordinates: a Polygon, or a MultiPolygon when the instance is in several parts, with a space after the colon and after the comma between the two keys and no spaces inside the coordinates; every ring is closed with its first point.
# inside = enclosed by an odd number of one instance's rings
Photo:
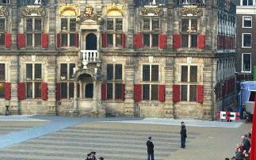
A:
{"type": "MultiPolygon", "coordinates": [[[[106,74],[106,84],[107,84],[107,101],[122,101],[122,97],[117,97],[117,93],[116,93],[116,87],[117,85],[121,85],[124,84],[124,64],[123,63],[107,63],[106,67],[108,66],[108,64],[112,64],[113,65],[113,78],[112,79],[108,79],[108,73],[106,74]],[[121,65],[122,66],[122,73],[121,79],[116,79],[116,65],[121,65]],[[112,91],[110,91],[110,93],[112,93],[111,97],[108,97],[109,92],[108,92],[108,84],[111,84],[112,86],[112,91]]],[[[122,90],[120,90],[120,95],[121,95],[122,90]]]]}

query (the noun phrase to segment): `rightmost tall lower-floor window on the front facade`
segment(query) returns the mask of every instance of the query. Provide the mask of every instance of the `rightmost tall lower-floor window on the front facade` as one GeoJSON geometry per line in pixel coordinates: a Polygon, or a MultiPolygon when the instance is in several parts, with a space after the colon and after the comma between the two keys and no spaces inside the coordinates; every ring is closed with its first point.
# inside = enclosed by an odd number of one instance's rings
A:
{"type": "Polygon", "coordinates": [[[197,101],[197,66],[181,66],[181,101],[197,101]]]}

